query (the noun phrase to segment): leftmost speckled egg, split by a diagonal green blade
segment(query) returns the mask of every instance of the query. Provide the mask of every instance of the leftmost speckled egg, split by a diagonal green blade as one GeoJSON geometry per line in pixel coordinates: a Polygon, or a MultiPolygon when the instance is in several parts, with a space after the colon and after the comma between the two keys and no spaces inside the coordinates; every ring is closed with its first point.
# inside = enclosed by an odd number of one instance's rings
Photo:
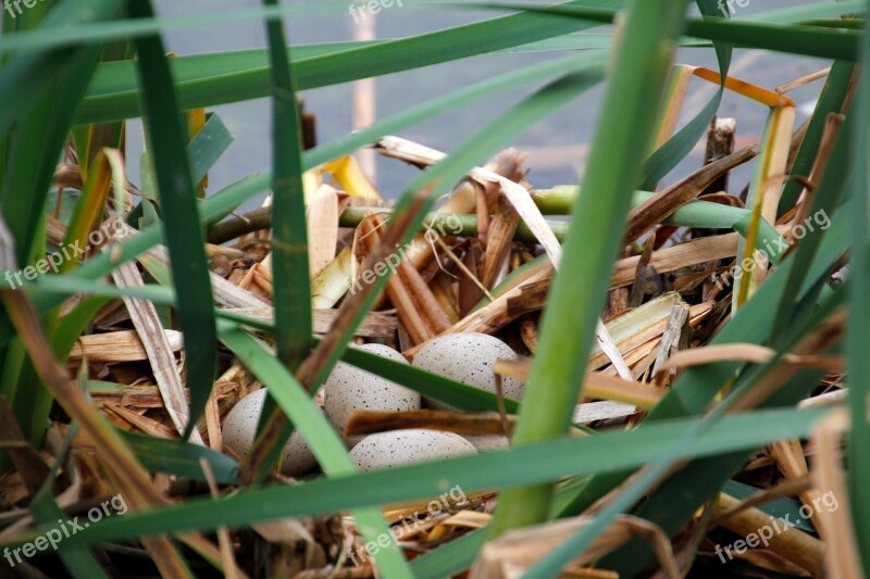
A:
{"type": "MultiPolygon", "coordinates": [[[[251,392],[233,406],[224,418],[222,430],[224,448],[235,456],[245,456],[253,444],[257,435],[257,421],[263,410],[265,388],[251,392]]],[[[313,469],[318,461],[298,430],[294,430],[290,440],[284,446],[281,471],[298,477],[313,469]]]]}

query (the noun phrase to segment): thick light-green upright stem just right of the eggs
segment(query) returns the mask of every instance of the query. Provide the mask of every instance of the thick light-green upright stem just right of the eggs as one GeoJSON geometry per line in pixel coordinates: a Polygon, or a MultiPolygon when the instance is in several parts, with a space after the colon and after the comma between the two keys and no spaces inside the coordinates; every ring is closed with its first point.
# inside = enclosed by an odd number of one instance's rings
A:
{"type": "MultiPolygon", "coordinates": [[[[576,265],[559,272],[550,289],[513,433],[518,446],[564,436],[570,428],[610,268],[641,176],[638,160],[646,158],[655,138],[684,10],[685,2],[633,2],[622,41],[614,47],[616,65],[581,187],[595,196],[581,196],[568,231],[564,262],[576,265]],[[592,215],[594,219],[586,218],[592,215]]],[[[551,500],[552,484],[504,492],[493,532],[545,520],[551,500]]]]}

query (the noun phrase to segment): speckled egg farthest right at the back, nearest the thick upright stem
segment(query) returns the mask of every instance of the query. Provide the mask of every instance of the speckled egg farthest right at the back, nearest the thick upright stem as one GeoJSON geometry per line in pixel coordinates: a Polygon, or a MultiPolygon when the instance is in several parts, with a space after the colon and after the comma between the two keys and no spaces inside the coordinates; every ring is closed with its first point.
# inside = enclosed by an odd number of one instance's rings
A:
{"type": "MultiPolygon", "coordinates": [[[[517,353],[505,342],[487,333],[470,331],[447,333],[427,342],[414,356],[413,365],[420,369],[439,374],[469,386],[496,392],[493,365],[497,360],[515,360],[517,353]]],[[[504,377],[505,395],[520,400],[525,382],[504,377]]],[[[446,410],[448,406],[426,400],[430,407],[446,410]]]]}

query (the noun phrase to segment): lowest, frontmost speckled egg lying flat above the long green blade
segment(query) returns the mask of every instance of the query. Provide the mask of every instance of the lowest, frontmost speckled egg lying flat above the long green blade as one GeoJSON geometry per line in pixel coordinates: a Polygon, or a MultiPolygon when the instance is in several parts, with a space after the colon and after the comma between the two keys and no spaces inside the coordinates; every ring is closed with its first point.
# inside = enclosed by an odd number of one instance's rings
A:
{"type": "Polygon", "coordinates": [[[459,435],[413,429],[369,435],[350,451],[350,457],[362,470],[391,468],[462,454],[477,454],[477,451],[459,435]]]}

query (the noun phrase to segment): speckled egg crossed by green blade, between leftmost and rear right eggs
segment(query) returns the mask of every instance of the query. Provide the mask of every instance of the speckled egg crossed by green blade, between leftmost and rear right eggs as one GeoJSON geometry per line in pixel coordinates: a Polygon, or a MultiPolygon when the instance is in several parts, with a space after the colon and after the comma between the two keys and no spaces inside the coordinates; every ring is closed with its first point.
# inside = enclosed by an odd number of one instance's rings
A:
{"type": "MultiPolygon", "coordinates": [[[[366,343],[359,350],[408,364],[397,351],[378,343],[366,343]]],[[[345,433],[350,415],[355,411],[419,411],[420,393],[408,390],[376,374],[368,373],[350,364],[339,362],[326,379],[323,388],[323,407],[338,433],[348,446],[362,437],[348,437],[345,433]]]]}

